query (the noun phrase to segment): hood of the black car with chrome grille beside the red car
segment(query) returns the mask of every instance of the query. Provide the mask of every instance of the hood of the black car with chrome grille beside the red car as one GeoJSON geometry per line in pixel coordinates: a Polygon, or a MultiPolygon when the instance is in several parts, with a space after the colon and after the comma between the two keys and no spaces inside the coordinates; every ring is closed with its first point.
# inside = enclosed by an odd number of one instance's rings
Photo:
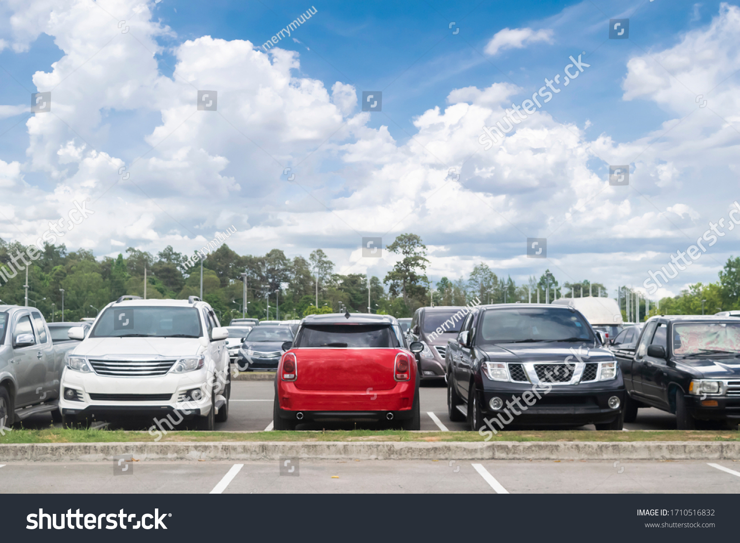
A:
{"type": "Polygon", "coordinates": [[[508,359],[507,361],[530,362],[533,360],[547,360],[548,362],[597,362],[599,360],[613,360],[614,355],[605,347],[593,347],[593,343],[499,343],[498,345],[480,345],[488,358],[508,359]],[[515,360],[512,360],[515,359],[515,360]]]}

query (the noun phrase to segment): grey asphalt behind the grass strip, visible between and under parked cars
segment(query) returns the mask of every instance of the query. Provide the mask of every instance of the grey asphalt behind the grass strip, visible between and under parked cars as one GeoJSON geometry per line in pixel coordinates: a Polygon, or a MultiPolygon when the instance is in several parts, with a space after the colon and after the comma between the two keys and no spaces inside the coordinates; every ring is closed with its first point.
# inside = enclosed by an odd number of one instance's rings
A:
{"type": "MultiPolygon", "coordinates": [[[[424,383],[420,391],[421,397],[421,429],[465,431],[468,426],[464,422],[452,422],[447,415],[447,388],[440,385],[424,383]],[[436,420],[435,420],[436,419],[436,420]]],[[[272,430],[272,402],[274,399],[274,383],[272,381],[235,381],[232,382],[232,397],[229,405],[229,420],[216,424],[216,430],[221,431],[261,431],[272,430]]],[[[40,415],[24,421],[25,428],[43,428],[50,425],[51,416],[40,415]]],[[[302,430],[354,428],[354,423],[324,425],[300,425],[302,430]]],[[[358,425],[358,428],[373,428],[371,425],[358,425]]],[[[142,429],[123,425],[121,428],[142,429]]],[[[639,410],[636,422],[625,424],[628,430],[675,430],[676,417],[653,408],[639,410]]],[[[595,430],[593,425],[581,426],[582,430],[595,430]]]]}

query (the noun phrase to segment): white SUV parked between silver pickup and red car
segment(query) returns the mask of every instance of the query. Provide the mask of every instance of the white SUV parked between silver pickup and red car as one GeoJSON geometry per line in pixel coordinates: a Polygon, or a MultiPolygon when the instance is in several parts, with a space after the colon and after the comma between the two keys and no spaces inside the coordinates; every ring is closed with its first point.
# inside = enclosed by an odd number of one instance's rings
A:
{"type": "Polygon", "coordinates": [[[122,296],[101,311],[87,337],[82,328],[69,335],[83,341],[61,374],[65,426],[147,417],[172,429],[195,418],[198,429],[213,430],[228,418],[229,331],[200,298],[122,296]]]}

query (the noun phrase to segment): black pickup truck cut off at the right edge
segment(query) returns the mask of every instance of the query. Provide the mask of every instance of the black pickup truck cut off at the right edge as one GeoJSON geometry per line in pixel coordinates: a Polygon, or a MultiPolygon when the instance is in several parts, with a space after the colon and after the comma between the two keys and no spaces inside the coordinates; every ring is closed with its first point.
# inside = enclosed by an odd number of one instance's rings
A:
{"type": "Polygon", "coordinates": [[[652,317],[637,344],[615,354],[628,391],[625,421],[633,422],[638,408],[655,407],[675,413],[679,430],[740,422],[737,317],[652,317]]]}

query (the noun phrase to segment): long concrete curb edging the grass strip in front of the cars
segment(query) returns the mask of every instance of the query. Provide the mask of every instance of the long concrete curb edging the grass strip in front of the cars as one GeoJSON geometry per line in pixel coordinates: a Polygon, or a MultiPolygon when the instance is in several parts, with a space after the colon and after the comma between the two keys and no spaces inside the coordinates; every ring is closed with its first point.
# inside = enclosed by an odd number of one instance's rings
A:
{"type": "Polygon", "coordinates": [[[138,460],[729,460],[740,442],[127,442],[0,445],[0,462],[138,460]]]}

